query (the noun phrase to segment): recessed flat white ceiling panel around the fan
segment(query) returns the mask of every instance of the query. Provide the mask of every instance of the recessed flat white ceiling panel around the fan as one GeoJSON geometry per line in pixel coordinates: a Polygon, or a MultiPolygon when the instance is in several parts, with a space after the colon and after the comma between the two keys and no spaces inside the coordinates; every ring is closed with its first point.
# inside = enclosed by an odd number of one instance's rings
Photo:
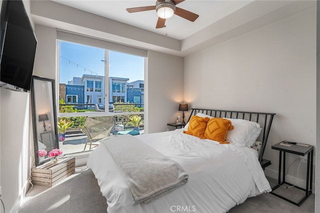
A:
{"type": "Polygon", "coordinates": [[[215,21],[249,4],[252,0],[185,0],[177,7],[199,15],[194,21],[188,21],[173,15],[166,19],[165,28],[155,28],[157,14],[155,10],[128,13],[126,8],[155,5],[156,0],[54,0],[77,9],[98,14],[113,20],[139,28],[166,34],[182,40],[207,27],[215,21]]]}

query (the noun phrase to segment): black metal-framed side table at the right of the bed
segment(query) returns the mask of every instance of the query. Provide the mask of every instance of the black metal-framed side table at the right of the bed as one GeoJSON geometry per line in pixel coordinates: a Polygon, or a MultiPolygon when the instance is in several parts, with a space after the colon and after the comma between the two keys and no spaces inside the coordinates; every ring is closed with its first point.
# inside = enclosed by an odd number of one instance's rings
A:
{"type": "Polygon", "coordinates": [[[313,161],[313,145],[309,145],[309,146],[300,146],[300,145],[296,145],[293,144],[291,146],[286,146],[286,145],[281,145],[280,143],[274,144],[271,146],[272,149],[275,150],[279,150],[279,173],[278,173],[278,184],[276,186],[274,186],[272,188],[272,191],[270,192],[271,194],[274,194],[286,201],[289,201],[295,205],[300,206],[302,204],[302,202],[304,202],[304,200],[306,198],[308,198],[308,196],[310,196],[312,194],[312,161],[313,161]],[[283,152],[283,157],[282,157],[282,152],[283,152]],[[305,188],[301,188],[298,186],[295,186],[295,188],[298,188],[300,190],[305,191],[305,196],[303,196],[300,201],[298,202],[294,202],[286,197],[283,197],[277,193],[274,192],[274,190],[276,188],[278,188],[280,185],[286,183],[288,185],[293,186],[293,184],[288,183],[285,181],[285,153],[292,153],[292,154],[297,154],[297,155],[308,155],[307,157],[307,170],[306,170],[306,185],[305,188]],[[281,161],[283,163],[282,166],[282,181],[281,181],[281,161]]]}

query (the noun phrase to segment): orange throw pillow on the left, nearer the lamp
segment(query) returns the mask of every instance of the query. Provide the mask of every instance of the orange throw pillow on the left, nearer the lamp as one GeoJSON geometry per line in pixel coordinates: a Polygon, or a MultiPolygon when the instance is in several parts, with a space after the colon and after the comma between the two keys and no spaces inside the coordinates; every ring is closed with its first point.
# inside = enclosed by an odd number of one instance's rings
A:
{"type": "Polygon", "coordinates": [[[192,116],[189,120],[188,130],[184,130],[183,133],[199,137],[200,139],[205,139],[203,134],[206,127],[206,122],[209,119],[210,118],[208,117],[199,117],[197,115],[192,116]]]}

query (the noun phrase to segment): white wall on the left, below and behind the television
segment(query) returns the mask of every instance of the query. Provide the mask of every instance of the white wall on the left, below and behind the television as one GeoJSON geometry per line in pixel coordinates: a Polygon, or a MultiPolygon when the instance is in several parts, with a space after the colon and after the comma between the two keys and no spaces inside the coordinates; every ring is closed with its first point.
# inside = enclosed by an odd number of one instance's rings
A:
{"type": "MultiPolygon", "coordinates": [[[[23,0],[30,18],[30,2],[23,0]]],[[[32,19],[30,19],[33,25],[32,19]]],[[[27,92],[0,88],[0,185],[6,212],[22,203],[32,157],[32,119],[27,92]]]]}

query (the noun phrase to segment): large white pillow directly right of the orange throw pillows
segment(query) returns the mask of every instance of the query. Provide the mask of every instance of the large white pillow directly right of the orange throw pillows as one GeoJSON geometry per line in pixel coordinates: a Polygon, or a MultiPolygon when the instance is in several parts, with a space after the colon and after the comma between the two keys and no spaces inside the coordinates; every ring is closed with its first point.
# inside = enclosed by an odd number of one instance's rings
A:
{"type": "Polygon", "coordinates": [[[233,118],[225,119],[231,120],[231,123],[234,127],[232,130],[229,130],[226,133],[225,139],[229,142],[235,143],[238,146],[246,145],[251,147],[262,129],[258,123],[253,121],[233,118]]]}

